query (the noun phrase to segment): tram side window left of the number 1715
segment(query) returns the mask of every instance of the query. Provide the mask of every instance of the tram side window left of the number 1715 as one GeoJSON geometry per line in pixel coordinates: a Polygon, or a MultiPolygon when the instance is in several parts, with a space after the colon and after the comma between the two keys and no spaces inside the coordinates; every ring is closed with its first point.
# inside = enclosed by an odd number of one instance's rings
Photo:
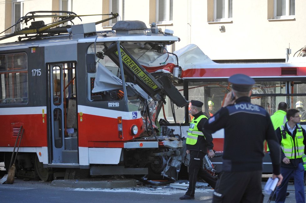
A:
{"type": "Polygon", "coordinates": [[[0,55],[0,105],[28,103],[26,53],[0,55]]]}

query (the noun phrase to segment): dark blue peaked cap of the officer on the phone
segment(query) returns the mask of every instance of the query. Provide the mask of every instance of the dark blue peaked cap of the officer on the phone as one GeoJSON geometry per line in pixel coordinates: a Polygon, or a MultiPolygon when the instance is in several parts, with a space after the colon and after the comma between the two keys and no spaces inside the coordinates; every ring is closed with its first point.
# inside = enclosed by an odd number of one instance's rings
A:
{"type": "Polygon", "coordinates": [[[232,83],[232,89],[237,92],[248,92],[255,84],[255,80],[247,75],[236,74],[228,78],[228,82],[232,83]]]}

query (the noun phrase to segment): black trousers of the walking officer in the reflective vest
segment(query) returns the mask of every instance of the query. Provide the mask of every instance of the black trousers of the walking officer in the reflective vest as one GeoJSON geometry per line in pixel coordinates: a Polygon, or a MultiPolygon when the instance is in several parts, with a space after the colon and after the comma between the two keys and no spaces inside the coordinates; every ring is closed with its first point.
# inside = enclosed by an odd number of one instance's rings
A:
{"type": "Polygon", "coordinates": [[[212,188],[215,188],[217,180],[203,169],[203,158],[206,154],[202,151],[190,151],[190,161],[188,167],[189,187],[186,195],[194,196],[197,175],[206,181],[212,188]]]}

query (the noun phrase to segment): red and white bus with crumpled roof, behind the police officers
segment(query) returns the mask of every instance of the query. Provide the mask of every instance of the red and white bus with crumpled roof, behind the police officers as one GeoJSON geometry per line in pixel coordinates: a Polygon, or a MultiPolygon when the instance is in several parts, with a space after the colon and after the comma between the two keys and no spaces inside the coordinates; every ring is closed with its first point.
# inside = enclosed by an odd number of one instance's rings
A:
{"type": "MultiPolygon", "coordinates": [[[[295,105],[298,102],[301,104],[298,107],[302,107],[303,104],[306,105],[306,55],[304,52],[306,49],[302,47],[294,57],[289,57],[288,62],[216,63],[195,45],[188,45],[175,52],[179,56],[179,65],[182,67],[180,77],[183,81],[177,89],[189,101],[202,101],[203,111],[209,115],[208,102],[212,101],[214,104],[212,114],[217,112],[226,94],[231,91],[227,79],[234,74],[241,73],[256,81],[252,87],[251,102],[263,106],[270,115],[278,110],[279,102],[286,102],[290,108],[296,108],[295,105]],[[180,60],[180,56],[183,55],[186,55],[187,59],[180,60]]],[[[170,124],[167,125],[176,129],[176,132],[181,132],[183,137],[186,136],[186,130],[188,130],[187,108],[173,108],[175,117],[168,119],[170,124]],[[177,125],[175,121],[185,124],[177,125]]],[[[160,114],[160,118],[162,117],[163,115],[160,114]]],[[[305,121],[305,118],[302,117],[301,125],[306,129],[305,121]]],[[[221,155],[224,131],[214,133],[213,139],[216,155],[221,155]]],[[[213,164],[222,163],[222,158],[213,158],[212,162],[213,164]]],[[[271,160],[267,153],[263,162],[263,172],[272,172],[271,160]]],[[[217,170],[220,167],[218,166],[217,170]]]]}

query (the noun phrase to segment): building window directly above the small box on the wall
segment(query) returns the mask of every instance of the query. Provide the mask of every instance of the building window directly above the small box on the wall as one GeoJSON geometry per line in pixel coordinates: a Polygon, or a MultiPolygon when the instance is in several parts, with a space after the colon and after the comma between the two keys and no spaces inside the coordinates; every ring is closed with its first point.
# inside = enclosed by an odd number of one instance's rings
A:
{"type": "Polygon", "coordinates": [[[232,0],[215,0],[214,2],[215,21],[232,18],[233,17],[232,11],[233,11],[232,0]]]}

